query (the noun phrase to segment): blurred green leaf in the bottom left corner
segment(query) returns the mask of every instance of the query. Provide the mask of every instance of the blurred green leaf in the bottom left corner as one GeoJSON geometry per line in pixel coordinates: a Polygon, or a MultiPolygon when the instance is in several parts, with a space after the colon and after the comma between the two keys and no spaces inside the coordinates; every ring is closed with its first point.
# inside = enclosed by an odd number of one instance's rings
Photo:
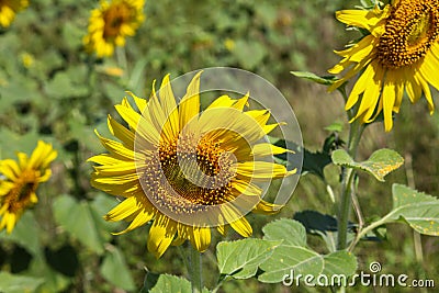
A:
{"type": "Polygon", "coordinates": [[[34,292],[43,282],[44,280],[42,278],[14,275],[9,272],[0,272],[0,292],[34,292]]]}

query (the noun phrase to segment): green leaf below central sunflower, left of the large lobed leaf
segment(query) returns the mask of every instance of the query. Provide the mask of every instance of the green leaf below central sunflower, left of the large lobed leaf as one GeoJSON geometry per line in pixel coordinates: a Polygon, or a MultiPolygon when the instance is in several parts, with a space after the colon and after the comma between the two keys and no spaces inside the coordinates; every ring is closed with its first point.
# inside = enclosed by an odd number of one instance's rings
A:
{"type": "Polygon", "coordinates": [[[221,274],[235,279],[248,279],[256,274],[258,266],[267,260],[282,240],[243,239],[223,241],[216,246],[221,274]]]}

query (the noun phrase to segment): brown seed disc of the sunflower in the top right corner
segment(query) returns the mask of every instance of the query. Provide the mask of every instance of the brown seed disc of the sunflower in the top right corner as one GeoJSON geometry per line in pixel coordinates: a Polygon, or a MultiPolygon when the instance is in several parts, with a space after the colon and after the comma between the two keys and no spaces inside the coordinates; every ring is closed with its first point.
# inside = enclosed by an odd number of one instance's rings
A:
{"type": "Polygon", "coordinates": [[[438,1],[401,1],[380,37],[378,59],[389,69],[410,66],[427,54],[438,36],[438,1]]]}

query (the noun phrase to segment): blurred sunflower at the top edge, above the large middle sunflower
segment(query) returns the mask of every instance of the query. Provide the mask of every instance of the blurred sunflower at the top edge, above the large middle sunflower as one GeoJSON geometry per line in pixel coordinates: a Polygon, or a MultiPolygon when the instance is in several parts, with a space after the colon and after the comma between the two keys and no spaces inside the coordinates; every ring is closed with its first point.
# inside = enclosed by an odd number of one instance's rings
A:
{"type": "Polygon", "coordinates": [[[124,46],[125,36],[133,36],[144,21],[144,4],[145,0],[101,1],[100,8],[91,11],[83,38],[87,52],[104,57],[113,55],[114,46],[124,46]]]}

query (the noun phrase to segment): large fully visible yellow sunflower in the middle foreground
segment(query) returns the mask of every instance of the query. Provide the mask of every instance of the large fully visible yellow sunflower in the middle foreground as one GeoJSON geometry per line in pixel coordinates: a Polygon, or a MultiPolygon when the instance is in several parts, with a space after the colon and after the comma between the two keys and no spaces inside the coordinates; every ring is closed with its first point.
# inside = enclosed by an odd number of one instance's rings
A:
{"type": "Polygon", "coordinates": [[[279,124],[267,124],[268,110],[244,111],[240,99],[217,98],[200,113],[200,75],[194,76],[177,104],[169,75],[148,101],[130,93],[115,105],[128,127],[109,115],[114,142],[98,136],[109,154],[89,159],[91,184],[125,198],[106,221],[128,221],[137,228],[150,221],[148,250],[159,258],[167,248],[189,240],[199,251],[211,243],[211,227],[222,235],[232,227],[244,237],[252,229],[244,217],[249,211],[275,213],[280,206],[261,199],[258,182],[292,174],[264,160],[288,151],[263,140],[279,124]]]}

